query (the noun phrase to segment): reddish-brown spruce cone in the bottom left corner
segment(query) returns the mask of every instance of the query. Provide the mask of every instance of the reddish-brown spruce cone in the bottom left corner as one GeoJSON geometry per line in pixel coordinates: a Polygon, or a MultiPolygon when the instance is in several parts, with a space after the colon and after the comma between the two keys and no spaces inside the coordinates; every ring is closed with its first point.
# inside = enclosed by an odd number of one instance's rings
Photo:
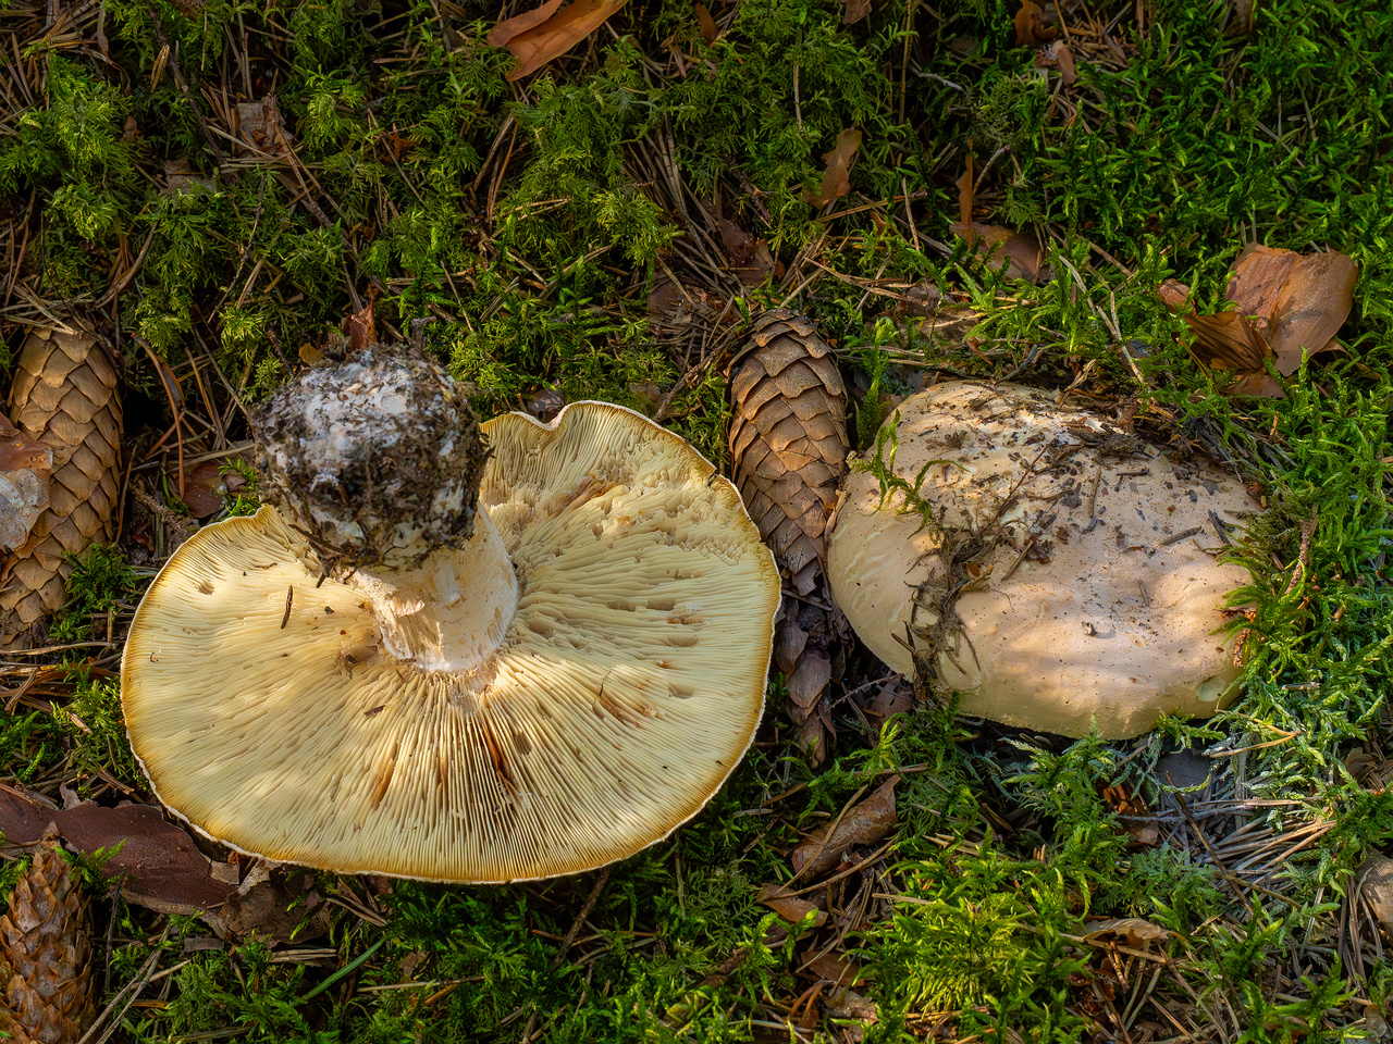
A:
{"type": "Polygon", "coordinates": [[[0,1036],[13,1044],[74,1044],[92,1022],[85,906],[50,839],[0,916],[0,1036]]]}

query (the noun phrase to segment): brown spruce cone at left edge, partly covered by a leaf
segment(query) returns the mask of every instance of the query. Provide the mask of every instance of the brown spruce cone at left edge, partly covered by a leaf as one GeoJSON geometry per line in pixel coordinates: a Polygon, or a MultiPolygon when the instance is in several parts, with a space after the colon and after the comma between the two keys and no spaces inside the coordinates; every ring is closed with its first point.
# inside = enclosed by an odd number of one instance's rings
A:
{"type": "Polygon", "coordinates": [[[29,644],[63,604],[79,554],[111,536],[120,475],[121,398],[106,351],[86,331],[35,330],[20,349],[10,418],[53,450],[49,507],[0,565],[0,647],[29,644]]]}

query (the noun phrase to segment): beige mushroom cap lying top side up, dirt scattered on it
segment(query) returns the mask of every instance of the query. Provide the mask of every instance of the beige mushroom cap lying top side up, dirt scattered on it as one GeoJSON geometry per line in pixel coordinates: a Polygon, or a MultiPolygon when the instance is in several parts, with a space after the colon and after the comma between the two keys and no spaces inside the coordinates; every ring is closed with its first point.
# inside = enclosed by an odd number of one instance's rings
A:
{"type": "Polygon", "coordinates": [[[1216,555],[1259,509],[1236,479],[1013,384],[939,384],[882,436],[886,483],[875,462],[848,476],[827,572],[892,668],[958,690],[964,714],[1071,736],[1236,695],[1215,632],[1248,575],[1216,555]]]}

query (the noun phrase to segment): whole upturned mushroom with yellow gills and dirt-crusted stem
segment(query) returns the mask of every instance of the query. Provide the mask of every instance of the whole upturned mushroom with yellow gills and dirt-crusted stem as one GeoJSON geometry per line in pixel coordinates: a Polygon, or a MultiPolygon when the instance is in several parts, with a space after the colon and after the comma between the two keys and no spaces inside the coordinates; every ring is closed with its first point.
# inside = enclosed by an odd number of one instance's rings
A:
{"type": "Polygon", "coordinates": [[[688,443],[603,402],[481,438],[443,372],[380,348],[255,427],[280,511],[180,547],[121,665],[177,816],[273,860],[503,883],[638,852],[734,770],[779,574],[688,443]]]}

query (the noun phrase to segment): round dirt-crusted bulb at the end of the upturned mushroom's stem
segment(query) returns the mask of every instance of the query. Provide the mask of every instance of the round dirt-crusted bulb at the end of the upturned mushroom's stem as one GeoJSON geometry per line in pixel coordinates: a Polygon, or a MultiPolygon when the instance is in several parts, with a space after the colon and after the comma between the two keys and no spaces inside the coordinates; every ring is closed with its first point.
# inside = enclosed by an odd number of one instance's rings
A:
{"type": "Polygon", "coordinates": [[[486,450],[435,363],[379,348],[309,369],[254,425],[263,494],[326,568],[418,564],[469,540],[486,450]]]}

